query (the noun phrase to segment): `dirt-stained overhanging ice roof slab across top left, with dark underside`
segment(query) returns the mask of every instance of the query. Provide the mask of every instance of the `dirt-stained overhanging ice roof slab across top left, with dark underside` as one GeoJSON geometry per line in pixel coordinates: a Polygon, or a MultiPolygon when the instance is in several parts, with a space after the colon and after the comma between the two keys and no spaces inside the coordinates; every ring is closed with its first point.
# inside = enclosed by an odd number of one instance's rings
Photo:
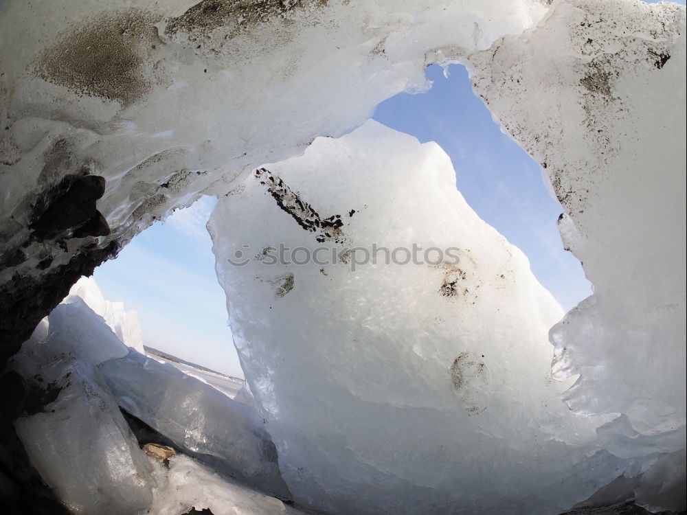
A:
{"type": "Polygon", "coordinates": [[[170,209],[345,132],[427,87],[428,62],[545,14],[540,0],[194,3],[0,5],[0,323],[17,345],[170,209]]]}

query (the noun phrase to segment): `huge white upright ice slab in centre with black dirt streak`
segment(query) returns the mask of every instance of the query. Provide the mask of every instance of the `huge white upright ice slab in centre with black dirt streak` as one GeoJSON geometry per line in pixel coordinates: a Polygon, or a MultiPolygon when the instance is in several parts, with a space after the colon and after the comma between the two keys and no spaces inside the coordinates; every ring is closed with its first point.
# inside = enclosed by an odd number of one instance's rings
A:
{"type": "Polygon", "coordinates": [[[563,310],[465,203],[436,144],[376,122],[318,138],[221,198],[208,227],[247,382],[297,501],[550,514],[622,470],[594,455],[594,425],[552,381],[548,330],[563,310]],[[425,263],[385,264],[379,251],[361,264],[375,244],[401,262],[417,244],[425,263]]]}

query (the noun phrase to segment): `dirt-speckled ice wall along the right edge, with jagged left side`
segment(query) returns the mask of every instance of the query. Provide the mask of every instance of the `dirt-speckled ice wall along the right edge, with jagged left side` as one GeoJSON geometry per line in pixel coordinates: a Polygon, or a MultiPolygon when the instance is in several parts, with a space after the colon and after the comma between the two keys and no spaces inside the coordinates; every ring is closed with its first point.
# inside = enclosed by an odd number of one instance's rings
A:
{"type": "Polygon", "coordinates": [[[545,168],[594,284],[551,330],[554,376],[579,374],[565,402],[622,413],[619,436],[664,450],[685,444],[685,25],[674,3],[559,2],[469,58],[475,91],[545,168]]]}

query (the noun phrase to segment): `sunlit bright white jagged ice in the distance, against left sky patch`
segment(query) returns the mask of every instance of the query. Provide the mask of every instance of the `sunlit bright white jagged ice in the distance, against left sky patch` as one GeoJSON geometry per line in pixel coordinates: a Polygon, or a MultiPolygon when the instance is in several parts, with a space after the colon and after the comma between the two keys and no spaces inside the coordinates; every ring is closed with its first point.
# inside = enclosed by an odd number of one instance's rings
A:
{"type": "MultiPolygon", "coordinates": [[[[136,311],[124,310],[123,302],[105,300],[93,277],[81,277],[69,290],[69,296],[72,295],[81,297],[89,308],[98,313],[124,345],[133,347],[141,354],[145,353],[141,324],[136,311]]],[[[63,301],[68,302],[69,297],[63,301]]]]}

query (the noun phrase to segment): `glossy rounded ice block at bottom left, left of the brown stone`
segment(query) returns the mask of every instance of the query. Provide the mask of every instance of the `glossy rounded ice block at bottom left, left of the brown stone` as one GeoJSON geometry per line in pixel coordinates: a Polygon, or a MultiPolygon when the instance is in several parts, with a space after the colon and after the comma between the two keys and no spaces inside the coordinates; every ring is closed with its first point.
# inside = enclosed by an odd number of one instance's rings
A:
{"type": "Polygon", "coordinates": [[[57,378],[40,387],[58,396],[45,411],[14,423],[31,464],[71,512],[146,510],[153,501],[152,466],[97,371],[69,358],[49,367],[57,378]]]}

